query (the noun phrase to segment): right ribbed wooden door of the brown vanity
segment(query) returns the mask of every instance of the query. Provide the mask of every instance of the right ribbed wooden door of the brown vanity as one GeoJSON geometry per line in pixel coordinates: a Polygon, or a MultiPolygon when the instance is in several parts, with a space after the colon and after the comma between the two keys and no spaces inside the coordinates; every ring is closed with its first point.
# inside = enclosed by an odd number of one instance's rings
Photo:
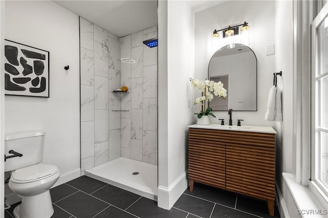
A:
{"type": "Polygon", "coordinates": [[[275,199],[275,135],[231,131],[226,147],[226,188],[275,199]]]}

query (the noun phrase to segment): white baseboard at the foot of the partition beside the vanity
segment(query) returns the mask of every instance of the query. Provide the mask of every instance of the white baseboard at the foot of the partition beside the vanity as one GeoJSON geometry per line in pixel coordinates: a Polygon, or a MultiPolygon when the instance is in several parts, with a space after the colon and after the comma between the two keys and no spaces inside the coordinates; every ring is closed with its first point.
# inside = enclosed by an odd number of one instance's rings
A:
{"type": "Polygon", "coordinates": [[[158,186],[157,206],[170,210],[188,187],[187,173],[183,172],[169,187],[158,186]]]}

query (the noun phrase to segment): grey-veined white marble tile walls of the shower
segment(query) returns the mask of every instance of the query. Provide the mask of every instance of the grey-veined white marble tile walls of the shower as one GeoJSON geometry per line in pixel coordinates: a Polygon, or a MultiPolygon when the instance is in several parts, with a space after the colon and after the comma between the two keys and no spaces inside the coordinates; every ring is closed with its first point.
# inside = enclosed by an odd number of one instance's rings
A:
{"type": "Polygon", "coordinates": [[[118,37],[80,17],[82,175],[120,157],[157,164],[157,48],[142,43],[154,37],[156,26],[118,37]]]}

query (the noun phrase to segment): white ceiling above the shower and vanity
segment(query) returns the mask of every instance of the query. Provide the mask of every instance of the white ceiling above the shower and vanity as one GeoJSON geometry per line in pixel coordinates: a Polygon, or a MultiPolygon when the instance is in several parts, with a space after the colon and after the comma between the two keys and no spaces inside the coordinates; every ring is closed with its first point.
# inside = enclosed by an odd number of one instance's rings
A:
{"type": "MultiPolygon", "coordinates": [[[[119,37],[157,25],[157,0],[59,0],[53,2],[119,37]]],[[[213,7],[223,2],[227,1],[187,1],[194,12],[213,7]]]]}

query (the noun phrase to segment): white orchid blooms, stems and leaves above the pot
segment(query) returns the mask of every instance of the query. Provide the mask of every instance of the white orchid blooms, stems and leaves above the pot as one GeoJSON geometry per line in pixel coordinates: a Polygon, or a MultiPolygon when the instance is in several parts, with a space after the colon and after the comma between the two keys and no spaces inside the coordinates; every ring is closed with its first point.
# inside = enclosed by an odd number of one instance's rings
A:
{"type": "MultiPolygon", "coordinates": [[[[213,117],[214,114],[211,113],[212,108],[208,107],[205,110],[206,101],[212,101],[214,98],[213,94],[215,96],[218,96],[219,98],[226,99],[227,97],[227,90],[223,88],[223,83],[221,81],[214,82],[210,80],[198,80],[198,79],[192,79],[189,78],[191,82],[191,86],[194,90],[202,92],[201,97],[198,97],[195,99],[194,105],[201,103],[201,111],[199,114],[197,114],[198,118],[201,118],[203,115],[211,115],[213,117]]],[[[195,113],[196,114],[196,113],[195,113]]]]}

